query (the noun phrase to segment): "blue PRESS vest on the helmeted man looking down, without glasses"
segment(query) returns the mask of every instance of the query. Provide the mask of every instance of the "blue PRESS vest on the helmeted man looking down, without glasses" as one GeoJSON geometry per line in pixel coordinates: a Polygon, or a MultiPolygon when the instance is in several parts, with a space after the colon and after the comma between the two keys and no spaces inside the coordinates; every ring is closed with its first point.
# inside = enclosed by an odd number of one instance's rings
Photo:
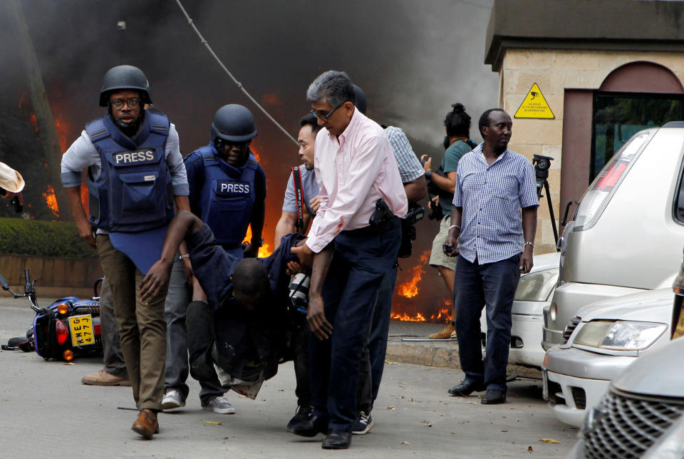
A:
{"type": "Polygon", "coordinates": [[[213,144],[192,154],[202,157],[204,183],[199,192],[199,217],[209,225],[216,242],[226,247],[239,247],[252,218],[252,206],[257,200],[254,176],[257,158],[249,152],[247,163],[232,167],[219,160],[213,144]]]}

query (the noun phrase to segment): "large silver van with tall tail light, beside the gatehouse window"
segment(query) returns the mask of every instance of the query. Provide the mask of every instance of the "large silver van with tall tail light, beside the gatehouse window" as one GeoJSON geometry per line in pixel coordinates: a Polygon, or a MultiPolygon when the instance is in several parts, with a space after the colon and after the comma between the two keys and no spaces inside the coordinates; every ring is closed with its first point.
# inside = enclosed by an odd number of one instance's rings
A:
{"type": "Polygon", "coordinates": [[[559,246],[559,285],[542,346],[564,342],[577,311],[599,299],[670,287],[684,245],[684,124],[642,130],[603,167],[559,246]]]}

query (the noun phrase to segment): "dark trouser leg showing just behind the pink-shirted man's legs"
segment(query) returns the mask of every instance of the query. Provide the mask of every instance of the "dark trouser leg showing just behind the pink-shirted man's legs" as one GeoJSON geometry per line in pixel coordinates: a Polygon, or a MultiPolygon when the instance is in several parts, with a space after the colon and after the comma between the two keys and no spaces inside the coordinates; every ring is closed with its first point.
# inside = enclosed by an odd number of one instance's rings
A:
{"type": "Polygon", "coordinates": [[[397,266],[390,270],[380,284],[378,299],[373,309],[373,323],[368,331],[368,344],[363,346],[361,368],[358,372],[358,388],[356,390],[356,410],[370,413],[373,402],[378,398],[380,381],[385,369],[387,353],[387,336],[390,331],[390,315],[392,313],[392,294],[397,281],[397,266]]]}

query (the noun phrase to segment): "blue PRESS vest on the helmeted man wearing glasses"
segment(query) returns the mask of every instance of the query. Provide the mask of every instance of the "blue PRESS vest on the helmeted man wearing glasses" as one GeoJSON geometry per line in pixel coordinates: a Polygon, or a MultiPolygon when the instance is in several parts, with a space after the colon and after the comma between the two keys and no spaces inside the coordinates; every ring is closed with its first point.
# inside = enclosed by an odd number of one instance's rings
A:
{"type": "Polygon", "coordinates": [[[92,225],[106,231],[138,232],[172,219],[172,177],[165,158],[169,127],[166,115],[147,111],[135,141],[110,116],[86,125],[102,165],[96,179],[88,171],[92,225]]]}

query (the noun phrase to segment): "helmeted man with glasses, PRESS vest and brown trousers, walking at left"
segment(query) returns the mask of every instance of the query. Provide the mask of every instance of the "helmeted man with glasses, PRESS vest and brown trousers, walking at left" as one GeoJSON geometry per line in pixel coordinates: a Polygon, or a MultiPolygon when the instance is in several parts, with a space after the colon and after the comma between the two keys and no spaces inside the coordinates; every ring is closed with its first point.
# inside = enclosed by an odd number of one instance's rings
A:
{"type": "Polygon", "coordinates": [[[190,208],[178,133],[166,115],[142,108],[152,103],[149,89],[140,68],[117,66],[105,73],[100,106],[108,108],[108,115],[86,125],[61,165],[78,232],[97,248],[112,290],[121,348],[140,409],[131,428],[147,440],[159,431],[162,409],[167,285],[142,301],[140,282],[160,257],[174,205],[190,208]],[[81,203],[86,167],[89,217],[81,203]]]}

